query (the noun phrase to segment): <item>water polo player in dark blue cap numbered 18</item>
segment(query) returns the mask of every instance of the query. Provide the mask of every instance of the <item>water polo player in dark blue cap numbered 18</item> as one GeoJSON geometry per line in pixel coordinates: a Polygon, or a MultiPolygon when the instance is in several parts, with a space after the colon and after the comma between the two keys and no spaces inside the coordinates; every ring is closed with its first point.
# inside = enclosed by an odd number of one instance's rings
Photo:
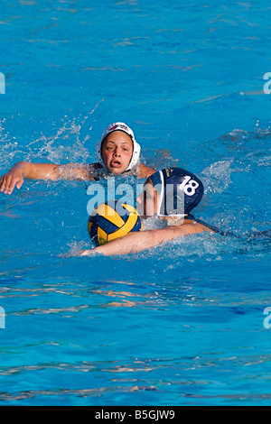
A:
{"type": "Polygon", "coordinates": [[[211,226],[197,222],[190,215],[202,195],[202,182],[192,172],[181,168],[157,171],[147,178],[142,194],[136,198],[137,209],[143,218],[161,217],[167,226],[129,233],[107,244],[82,250],[79,255],[137,253],[184,235],[213,232],[211,226]]]}

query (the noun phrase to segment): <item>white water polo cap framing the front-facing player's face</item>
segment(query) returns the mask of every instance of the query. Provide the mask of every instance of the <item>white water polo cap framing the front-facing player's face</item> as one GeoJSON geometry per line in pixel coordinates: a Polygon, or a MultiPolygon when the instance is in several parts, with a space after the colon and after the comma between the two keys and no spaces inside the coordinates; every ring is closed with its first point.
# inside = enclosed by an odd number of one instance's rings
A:
{"type": "Polygon", "coordinates": [[[114,124],[110,124],[110,125],[107,126],[107,128],[103,132],[100,141],[96,144],[96,156],[97,156],[97,159],[98,159],[98,163],[100,163],[104,167],[104,169],[107,171],[105,164],[104,164],[104,161],[103,161],[103,158],[102,158],[101,148],[102,148],[102,143],[103,143],[104,139],[107,137],[107,135],[110,134],[110,133],[114,133],[114,131],[122,131],[123,133],[126,133],[127,135],[129,135],[131,137],[131,140],[133,142],[133,154],[132,154],[132,158],[131,158],[129,165],[126,168],[126,171],[130,171],[130,170],[132,170],[132,168],[134,168],[134,166],[139,161],[140,145],[138,143],[136,143],[135,134],[133,133],[131,128],[129,128],[128,125],[126,125],[123,122],[116,122],[114,124]]]}

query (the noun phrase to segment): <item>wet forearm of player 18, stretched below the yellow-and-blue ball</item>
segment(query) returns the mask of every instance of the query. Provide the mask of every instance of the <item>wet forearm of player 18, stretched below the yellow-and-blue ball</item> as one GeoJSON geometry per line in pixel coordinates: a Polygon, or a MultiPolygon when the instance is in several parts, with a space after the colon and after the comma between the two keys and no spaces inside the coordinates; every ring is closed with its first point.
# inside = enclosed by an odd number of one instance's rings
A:
{"type": "Polygon", "coordinates": [[[103,253],[105,256],[116,254],[138,253],[145,249],[150,249],[163,242],[173,240],[184,235],[210,231],[207,226],[190,222],[182,226],[168,226],[159,230],[138,231],[124,235],[112,242],[103,244],[90,250],[80,251],[80,256],[88,256],[93,253],[103,253]]]}

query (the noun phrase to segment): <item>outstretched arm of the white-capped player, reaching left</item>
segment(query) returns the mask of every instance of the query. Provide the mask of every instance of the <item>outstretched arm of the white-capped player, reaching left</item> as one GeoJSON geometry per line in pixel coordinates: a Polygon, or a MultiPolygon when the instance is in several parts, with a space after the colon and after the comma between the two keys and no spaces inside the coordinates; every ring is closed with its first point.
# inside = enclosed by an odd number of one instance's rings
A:
{"type": "Polygon", "coordinates": [[[53,163],[31,163],[20,161],[0,180],[0,191],[12,194],[14,187],[21,189],[23,180],[92,180],[93,171],[90,165],[68,163],[57,165],[53,163]]]}

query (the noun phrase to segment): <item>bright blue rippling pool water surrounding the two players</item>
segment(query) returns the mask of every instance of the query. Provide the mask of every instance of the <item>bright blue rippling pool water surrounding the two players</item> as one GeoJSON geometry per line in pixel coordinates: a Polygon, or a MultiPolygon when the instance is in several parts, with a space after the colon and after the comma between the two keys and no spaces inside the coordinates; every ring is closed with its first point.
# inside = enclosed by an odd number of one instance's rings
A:
{"type": "MultiPolygon", "coordinates": [[[[1,174],[95,161],[107,124],[142,160],[204,182],[192,235],[125,257],[90,247],[88,183],[0,193],[1,405],[269,405],[270,5],[1,4],[1,174]]],[[[123,182],[120,178],[119,182],[123,182]]],[[[134,181],[135,182],[135,181],[134,181]]]]}

